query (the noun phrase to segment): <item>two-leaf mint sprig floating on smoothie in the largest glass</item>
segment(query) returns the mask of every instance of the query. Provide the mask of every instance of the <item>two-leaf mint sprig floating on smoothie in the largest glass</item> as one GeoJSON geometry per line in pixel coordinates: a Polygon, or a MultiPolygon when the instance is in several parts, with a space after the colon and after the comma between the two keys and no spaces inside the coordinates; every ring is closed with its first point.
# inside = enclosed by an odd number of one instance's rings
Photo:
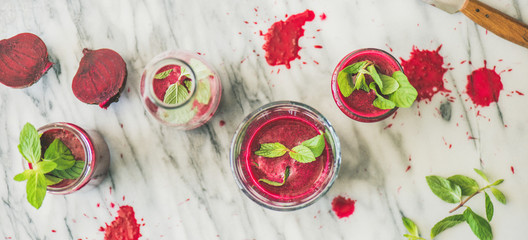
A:
{"type": "MultiPolygon", "coordinates": [[[[316,160],[317,157],[321,156],[325,148],[324,134],[321,133],[313,138],[310,138],[300,145],[293,147],[291,150],[279,142],[275,143],[262,143],[260,149],[255,151],[255,155],[276,158],[281,157],[286,153],[289,153],[290,157],[300,163],[310,163],[316,160]]],[[[258,167],[258,164],[255,163],[258,167]]],[[[259,182],[264,182],[272,186],[280,187],[286,183],[286,179],[290,175],[290,167],[286,167],[284,172],[284,178],[282,183],[271,181],[268,179],[259,179],[259,182]]]]}

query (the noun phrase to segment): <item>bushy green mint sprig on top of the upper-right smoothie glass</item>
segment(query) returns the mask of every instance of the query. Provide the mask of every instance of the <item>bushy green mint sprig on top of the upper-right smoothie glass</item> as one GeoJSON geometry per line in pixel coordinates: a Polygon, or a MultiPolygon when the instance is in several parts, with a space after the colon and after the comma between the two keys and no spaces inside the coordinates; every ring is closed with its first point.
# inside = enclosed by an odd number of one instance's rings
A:
{"type": "Polygon", "coordinates": [[[337,85],[344,97],[349,97],[355,90],[361,89],[365,92],[373,90],[377,98],[372,104],[380,109],[408,108],[418,96],[418,92],[403,72],[396,71],[392,76],[380,74],[375,64],[368,60],[356,62],[339,71],[337,85]],[[365,75],[369,75],[373,82],[367,84],[365,75]],[[377,89],[387,98],[379,94],[377,89]]]}

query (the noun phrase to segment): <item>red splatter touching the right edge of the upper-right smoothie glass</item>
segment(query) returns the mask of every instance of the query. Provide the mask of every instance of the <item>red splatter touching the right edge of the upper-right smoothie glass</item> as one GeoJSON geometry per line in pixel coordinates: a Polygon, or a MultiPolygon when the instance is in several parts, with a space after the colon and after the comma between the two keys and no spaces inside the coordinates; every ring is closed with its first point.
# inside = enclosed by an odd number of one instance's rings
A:
{"type": "Polygon", "coordinates": [[[402,58],[402,66],[409,82],[418,91],[418,101],[431,100],[438,92],[450,92],[444,88],[444,74],[447,69],[443,67],[444,58],[438,53],[442,45],[436,50],[419,50],[413,46],[409,60],[402,58]]]}

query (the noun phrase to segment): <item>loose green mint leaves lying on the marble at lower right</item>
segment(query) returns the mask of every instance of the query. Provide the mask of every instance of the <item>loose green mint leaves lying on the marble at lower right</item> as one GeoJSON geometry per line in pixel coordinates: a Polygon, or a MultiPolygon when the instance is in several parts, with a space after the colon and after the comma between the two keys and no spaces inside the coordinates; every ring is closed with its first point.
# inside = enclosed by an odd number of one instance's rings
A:
{"type": "MultiPolygon", "coordinates": [[[[489,184],[488,177],[481,170],[475,169],[475,172],[488,183],[487,186],[481,188],[477,181],[463,175],[454,175],[447,179],[439,176],[426,177],[427,184],[435,195],[446,202],[458,203],[458,205],[449,211],[449,213],[452,213],[463,207],[471,198],[481,192],[484,192],[484,204],[486,207],[486,218],[481,217],[480,215],[473,212],[471,208],[466,207],[466,210],[463,212],[463,214],[456,214],[442,219],[431,229],[431,238],[435,238],[438,234],[442,233],[448,228],[456,226],[462,222],[466,222],[469,225],[471,231],[473,231],[475,236],[477,236],[480,240],[493,239],[493,233],[489,222],[493,219],[495,209],[489,194],[485,190],[490,189],[499,202],[506,204],[506,197],[504,194],[494,187],[500,185],[502,182],[504,182],[504,180],[499,179],[489,184]],[[464,199],[462,198],[463,196],[467,197],[464,199]]],[[[407,227],[408,223],[405,219],[403,221],[404,225],[407,227]]],[[[410,232],[410,234],[404,234],[404,237],[407,237],[409,240],[423,239],[417,234],[411,232],[412,229],[407,228],[407,230],[410,232]]]]}

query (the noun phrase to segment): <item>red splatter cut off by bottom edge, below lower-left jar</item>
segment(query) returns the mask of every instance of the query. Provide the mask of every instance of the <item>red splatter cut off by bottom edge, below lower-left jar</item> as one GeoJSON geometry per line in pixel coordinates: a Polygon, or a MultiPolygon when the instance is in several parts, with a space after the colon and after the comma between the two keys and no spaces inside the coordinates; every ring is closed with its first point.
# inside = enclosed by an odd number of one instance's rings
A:
{"type": "Polygon", "coordinates": [[[140,224],[137,223],[134,209],[131,206],[122,206],[117,211],[118,216],[110,224],[106,224],[104,230],[105,240],[137,240],[141,237],[140,224]]]}

